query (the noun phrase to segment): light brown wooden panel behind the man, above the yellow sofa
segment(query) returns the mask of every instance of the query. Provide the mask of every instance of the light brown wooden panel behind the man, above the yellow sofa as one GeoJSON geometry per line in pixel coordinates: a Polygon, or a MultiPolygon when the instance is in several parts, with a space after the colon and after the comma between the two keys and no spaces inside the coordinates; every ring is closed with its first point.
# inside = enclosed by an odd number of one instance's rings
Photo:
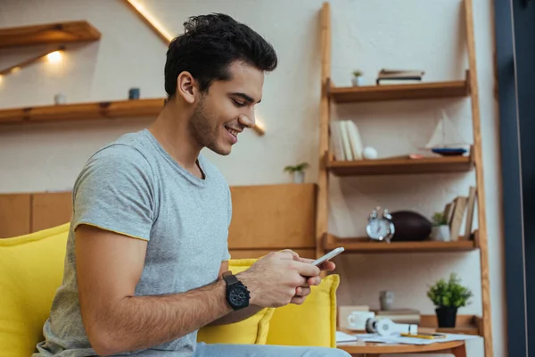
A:
{"type": "MultiPolygon", "coordinates": [[[[292,248],[314,258],[316,185],[231,187],[233,220],[228,245],[233,258],[256,258],[292,248]]],[[[70,221],[71,193],[0,195],[0,238],[16,237],[70,221]]]]}

